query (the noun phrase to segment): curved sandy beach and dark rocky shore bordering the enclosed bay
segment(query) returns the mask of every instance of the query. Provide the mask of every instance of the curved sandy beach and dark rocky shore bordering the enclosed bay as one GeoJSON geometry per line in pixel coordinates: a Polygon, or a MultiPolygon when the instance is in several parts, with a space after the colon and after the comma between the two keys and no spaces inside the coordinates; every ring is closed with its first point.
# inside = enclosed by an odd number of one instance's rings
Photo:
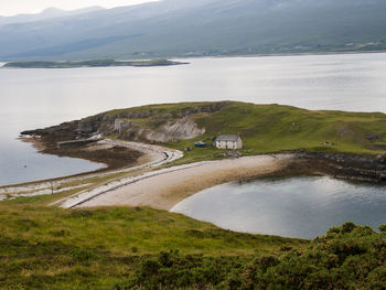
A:
{"type": "MultiPolygon", "coordinates": [[[[341,157],[341,155],[340,155],[341,157]]],[[[203,161],[147,172],[108,184],[103,190],[87,191],[73,198],[66,198],[62,207],[94,206],[150,206],[170,211],[182,200],[218,184],[249,180],[260,176],[294,174],[321,174],[336,179],[380,182],[375,170],[362,168],[362,160],[346,157],[346,163],[339,163],[336,155],[312,155],[301,153],[255,155],[218,161],[203,161]],[[357,161],[357,160],[356,160],[357,161]]]]}

